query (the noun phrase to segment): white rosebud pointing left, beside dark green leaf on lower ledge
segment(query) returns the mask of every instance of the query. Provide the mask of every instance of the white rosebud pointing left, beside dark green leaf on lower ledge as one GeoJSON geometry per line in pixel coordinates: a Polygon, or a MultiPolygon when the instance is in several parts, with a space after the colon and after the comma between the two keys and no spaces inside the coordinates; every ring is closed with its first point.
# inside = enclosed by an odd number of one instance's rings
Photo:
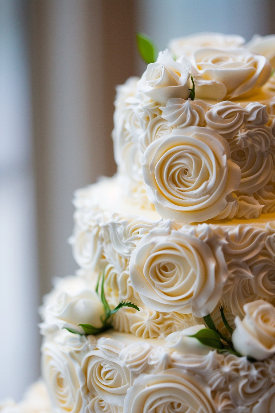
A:
{"type": "Polygon", "coordinates": [[[176,331],[169,334],[166,337],[167,343],[165,347],[174,349],[181,354],[198,354],[199,356],[205,356],[211,350],[210,347],[204,346],[195,337],[188,337],[197,334],[200,330],[205,328],[205,325],[192,325],[182,331],[176,331]]]}

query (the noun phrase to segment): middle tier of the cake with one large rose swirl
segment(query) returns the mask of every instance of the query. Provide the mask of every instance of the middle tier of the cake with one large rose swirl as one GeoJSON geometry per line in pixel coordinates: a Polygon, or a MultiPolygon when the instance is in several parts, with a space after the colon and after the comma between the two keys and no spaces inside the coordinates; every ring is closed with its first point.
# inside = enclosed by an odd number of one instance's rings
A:
{"type": "Polygon", "coordinates": [[[74,204],[80,276],[95,288],[104,273],[110,307],[140,309],[118,311],[115,330],[166,337],[211,314],[226,333],[219,307],[233,325],[244,304],[275,299],[275,214],[185,225],[132,204],[118,177],[78,190],[74,204]]]}

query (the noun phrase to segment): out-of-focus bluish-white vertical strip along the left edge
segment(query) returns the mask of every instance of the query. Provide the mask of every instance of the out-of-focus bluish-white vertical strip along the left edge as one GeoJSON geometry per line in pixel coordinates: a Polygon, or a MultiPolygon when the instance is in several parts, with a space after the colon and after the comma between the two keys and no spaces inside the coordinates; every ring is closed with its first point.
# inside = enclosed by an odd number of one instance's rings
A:
{"type": "Polygon", "coordinates": [[[39,376],[28,6],[0,0],[0,399],[39,376]]]}

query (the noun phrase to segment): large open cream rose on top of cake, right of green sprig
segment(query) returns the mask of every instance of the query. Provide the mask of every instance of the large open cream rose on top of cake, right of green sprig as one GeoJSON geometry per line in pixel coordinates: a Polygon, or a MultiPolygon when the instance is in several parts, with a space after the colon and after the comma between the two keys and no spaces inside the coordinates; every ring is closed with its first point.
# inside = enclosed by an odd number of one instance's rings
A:
{"type": "Polygon", "coordinates": [[[193,66],[195,96],[222,100],[251,92],[263,86],[271,74],[271,64],[264,56],[239,48],[205,47],[188,58],[193,66]]]}

